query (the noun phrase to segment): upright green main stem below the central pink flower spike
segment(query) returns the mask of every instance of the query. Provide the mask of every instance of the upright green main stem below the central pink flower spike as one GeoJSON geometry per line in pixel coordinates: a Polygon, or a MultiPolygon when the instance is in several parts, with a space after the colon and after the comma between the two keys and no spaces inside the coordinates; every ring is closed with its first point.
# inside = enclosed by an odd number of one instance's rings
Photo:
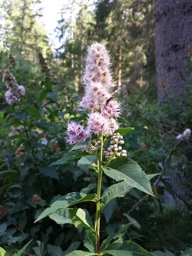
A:
{"type": "Polygon", "coordinates": [[[100,154],[98,157],[98,182],[97,182],[97,211],[96,211],[96,248],[100,253],[100,189],[102,182],[102,150],[103,150],[103,136],[100,134],[100,154]]]}

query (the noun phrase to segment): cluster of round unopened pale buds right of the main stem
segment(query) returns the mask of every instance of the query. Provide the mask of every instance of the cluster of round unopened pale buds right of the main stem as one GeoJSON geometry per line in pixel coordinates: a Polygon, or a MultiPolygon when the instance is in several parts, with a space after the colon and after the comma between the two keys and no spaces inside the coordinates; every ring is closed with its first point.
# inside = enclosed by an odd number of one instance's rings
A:
{"type": "Polygon", "coordinates": [[[124,144],[123,136],[121,136],[119,133],[115,133],[111,137],[110,146],[106,150],[104,149],[104,155],[106,156],[106,158],[111,156],[127,156],[127,150],[122,150],[122,147],[118,144],[124,144]]]}

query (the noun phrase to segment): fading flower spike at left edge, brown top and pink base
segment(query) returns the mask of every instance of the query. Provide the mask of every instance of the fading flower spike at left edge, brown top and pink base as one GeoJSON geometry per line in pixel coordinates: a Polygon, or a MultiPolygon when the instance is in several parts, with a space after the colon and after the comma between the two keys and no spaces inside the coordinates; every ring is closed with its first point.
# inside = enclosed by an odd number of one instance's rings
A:
{"type": "Polygon", "coordinates": [[[6,83],[6,88],[8,88],[5,93],[6,102],[10,105],[20,102],[20,97],[25,95],[26,90],[24,86],[17,84],[15,77],[8,69],[3,72],[3,82],[6,83]]]}

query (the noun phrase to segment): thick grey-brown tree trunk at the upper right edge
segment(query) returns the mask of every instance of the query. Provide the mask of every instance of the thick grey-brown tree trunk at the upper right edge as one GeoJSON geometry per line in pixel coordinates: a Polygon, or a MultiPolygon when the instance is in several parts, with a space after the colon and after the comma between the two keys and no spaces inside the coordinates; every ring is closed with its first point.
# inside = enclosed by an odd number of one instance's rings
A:
{"type": "Polygon", "coordinates": [[[192,0],[155,0],[156,73],[159,103],[182,96],[188,84],[186,59],[192,47],[192,0]]]}

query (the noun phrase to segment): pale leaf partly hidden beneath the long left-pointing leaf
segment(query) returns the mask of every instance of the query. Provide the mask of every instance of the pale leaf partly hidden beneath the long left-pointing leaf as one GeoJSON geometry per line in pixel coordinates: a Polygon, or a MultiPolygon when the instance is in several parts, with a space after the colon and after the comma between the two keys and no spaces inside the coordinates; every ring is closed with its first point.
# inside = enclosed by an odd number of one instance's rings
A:
{"type": "Polygon", "coordinates": [[[62,209],[60,211],[54,212],[49,215],[51,220],[56,221],[56,223],[62,224],[73,224],[72,220],[70,220],[68,209],[62,209]]]}

